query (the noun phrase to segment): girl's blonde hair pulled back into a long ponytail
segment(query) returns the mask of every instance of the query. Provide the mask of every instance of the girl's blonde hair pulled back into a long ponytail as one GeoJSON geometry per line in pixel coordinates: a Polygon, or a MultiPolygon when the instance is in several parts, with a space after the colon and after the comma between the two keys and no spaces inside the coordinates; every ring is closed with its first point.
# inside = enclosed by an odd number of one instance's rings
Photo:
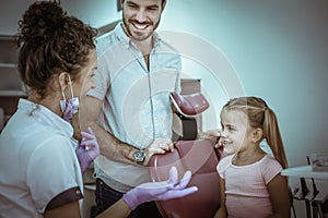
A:
{"type": "Polygon", "coordinates": [[[265,100],[258,97],[239,97],[227,101],[222,110],[238,110],[248,117],[251,128],[260,128],[263,131],[274,158],[281,164],[283,169],[288,168],[288,161],[283,147],[283,142],[278,126],[274,112],[268,107],[265,100]]]}

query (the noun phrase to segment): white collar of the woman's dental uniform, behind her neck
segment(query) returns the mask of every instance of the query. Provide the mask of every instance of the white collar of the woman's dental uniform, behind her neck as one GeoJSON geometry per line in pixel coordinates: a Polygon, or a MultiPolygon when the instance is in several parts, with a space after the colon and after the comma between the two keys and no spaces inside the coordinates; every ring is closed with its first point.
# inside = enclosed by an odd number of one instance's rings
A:
{"type": "Polygon", "coordinates": [[[63,136],[70,138],[73,136],[72,125],[47,107],[21,98],[17,108],[24,110],[28,116],[33,116],[42,124],[60,131],[63,136]]]}

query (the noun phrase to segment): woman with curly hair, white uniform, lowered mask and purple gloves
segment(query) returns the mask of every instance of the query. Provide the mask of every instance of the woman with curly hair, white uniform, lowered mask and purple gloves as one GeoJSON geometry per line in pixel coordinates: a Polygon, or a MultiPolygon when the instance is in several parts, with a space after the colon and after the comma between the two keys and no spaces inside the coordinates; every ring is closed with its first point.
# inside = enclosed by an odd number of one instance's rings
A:
{"type": "MultiPolygon", "coordinates": [[[[91,129],[78,147],[68,121],[96,86],[96,32],[56,1],[33,3],[19,24],[19,72],[28,97],[0,135],[0,217],[80,217],[81,171],[99,148],[91,129]]],[[[134,187],[99,217],[127,217],[144,202],[191,194],[190,178],[187,171],[178,181],[172,168],[167,181],[134,187]]]]}

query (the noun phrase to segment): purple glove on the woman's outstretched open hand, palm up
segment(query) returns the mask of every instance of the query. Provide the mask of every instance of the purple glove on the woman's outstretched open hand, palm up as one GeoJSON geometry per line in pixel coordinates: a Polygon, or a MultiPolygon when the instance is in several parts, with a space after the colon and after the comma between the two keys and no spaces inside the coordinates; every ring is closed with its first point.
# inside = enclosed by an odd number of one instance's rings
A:
{"type": "Polygon", "coordinates": [[[191,179],[191,172],[185,172],[183,179],[178,181],[177,169],[169,169],[169,178],[163,182],[149,182],[138,185],[124,194],[122,198],[133,210],[140,204],[153,201],[166,201],[176,197],[184,197],[198,191],[197,186],[186,187],[191,179]]]}

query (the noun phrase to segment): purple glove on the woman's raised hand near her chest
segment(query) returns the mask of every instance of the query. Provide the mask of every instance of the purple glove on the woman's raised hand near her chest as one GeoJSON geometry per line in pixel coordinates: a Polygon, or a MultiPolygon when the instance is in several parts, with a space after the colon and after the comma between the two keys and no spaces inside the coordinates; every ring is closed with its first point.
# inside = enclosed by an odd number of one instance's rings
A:
{"type": "Polygon", "coordinates": [[[87,128],[87,132],[81,132],[81,135],[82,141],[77,150],[77,155],[83,173],[87,166],[99,155],[101,149],[91,128],[87,128]]]}

